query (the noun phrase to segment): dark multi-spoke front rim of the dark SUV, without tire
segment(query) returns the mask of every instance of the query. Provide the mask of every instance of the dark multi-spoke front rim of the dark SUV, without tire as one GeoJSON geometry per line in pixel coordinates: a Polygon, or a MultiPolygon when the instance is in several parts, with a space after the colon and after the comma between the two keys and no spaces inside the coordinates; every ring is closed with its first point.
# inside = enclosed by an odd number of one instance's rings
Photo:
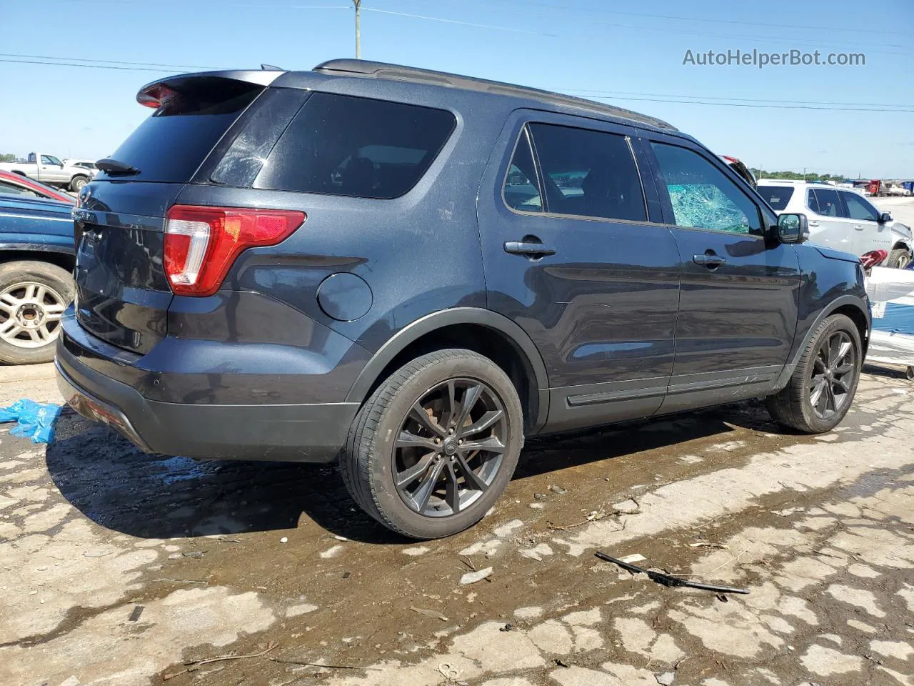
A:
{"type": "Polygon", "coordinates": [[[846,331],[825,338],[815,353],[809,402],[819,419],[831,419],[850,402],[856,376],[856,350],[846,331]]]}

